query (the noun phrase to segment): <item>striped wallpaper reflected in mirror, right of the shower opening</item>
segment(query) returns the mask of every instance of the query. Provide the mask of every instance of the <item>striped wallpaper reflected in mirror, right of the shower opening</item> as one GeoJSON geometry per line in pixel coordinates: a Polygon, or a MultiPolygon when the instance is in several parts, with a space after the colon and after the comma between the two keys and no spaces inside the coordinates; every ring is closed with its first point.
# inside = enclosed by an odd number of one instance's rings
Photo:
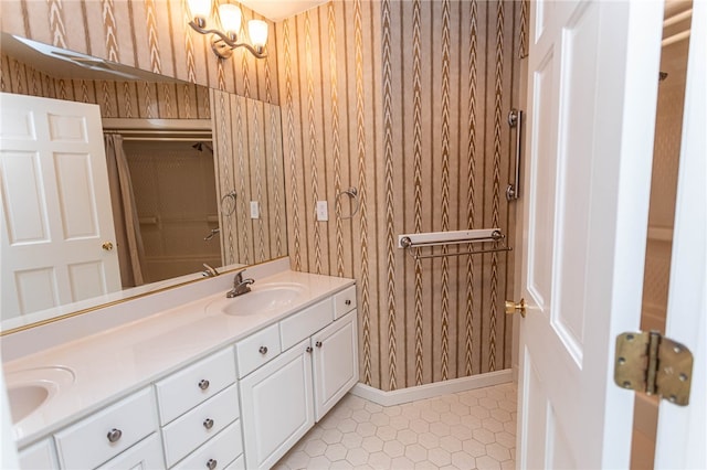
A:
{"type": "Polygon", "coordinates": [[[217,195],[224,264],[287,255],[279,107],[212,89],[217,195]],[[228,196],[235,192],[235,199],[228,196]],[[260,216],[251,217],[251,202],[260,216]]]}

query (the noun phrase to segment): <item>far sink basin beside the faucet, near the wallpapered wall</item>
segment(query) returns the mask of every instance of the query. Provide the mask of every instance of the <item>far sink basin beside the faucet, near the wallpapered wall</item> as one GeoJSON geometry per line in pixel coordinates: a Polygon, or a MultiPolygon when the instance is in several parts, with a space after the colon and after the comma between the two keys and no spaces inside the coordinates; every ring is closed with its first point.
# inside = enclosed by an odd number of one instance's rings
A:
{"type": "Polygon", "coordinates": [[[298,284],[254,285],[252,290],[232,299],[220,299],[209,306],[231,316],[250,316],[287,308],[305,291],[298,284]]]}

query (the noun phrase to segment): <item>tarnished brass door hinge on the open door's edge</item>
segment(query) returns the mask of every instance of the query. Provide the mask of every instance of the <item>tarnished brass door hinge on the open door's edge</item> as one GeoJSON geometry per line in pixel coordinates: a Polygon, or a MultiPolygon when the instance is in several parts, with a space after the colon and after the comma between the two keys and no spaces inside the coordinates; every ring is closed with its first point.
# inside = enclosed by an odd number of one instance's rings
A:
{"type": "Polygon", "coordinates": [[[687,406],[692,375],[689,349],[657,331],[616,337],[614,382],[620,387],[687,406]]]}

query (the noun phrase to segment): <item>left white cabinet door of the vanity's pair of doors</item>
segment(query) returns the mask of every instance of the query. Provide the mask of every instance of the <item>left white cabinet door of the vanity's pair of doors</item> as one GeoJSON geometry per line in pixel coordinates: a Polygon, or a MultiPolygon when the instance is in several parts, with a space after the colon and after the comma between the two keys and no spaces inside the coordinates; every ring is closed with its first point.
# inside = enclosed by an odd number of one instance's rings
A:
{"type": "Polygon", "coordinates": [[[245,467],[271,468],[314,426],[305,340],[241,381],[245,467]]]}

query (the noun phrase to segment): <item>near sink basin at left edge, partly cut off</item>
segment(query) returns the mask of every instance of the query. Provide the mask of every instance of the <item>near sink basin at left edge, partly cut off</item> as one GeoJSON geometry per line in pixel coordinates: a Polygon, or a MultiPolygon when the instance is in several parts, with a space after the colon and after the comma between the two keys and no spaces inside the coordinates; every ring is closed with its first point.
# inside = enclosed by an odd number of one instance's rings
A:
{"type": "Polygon", "coordinates": [[[11,372],[6,378],[12,423],[19,423],[71,386],[75,375],[66,367],[54,366],[11,372]]]}

